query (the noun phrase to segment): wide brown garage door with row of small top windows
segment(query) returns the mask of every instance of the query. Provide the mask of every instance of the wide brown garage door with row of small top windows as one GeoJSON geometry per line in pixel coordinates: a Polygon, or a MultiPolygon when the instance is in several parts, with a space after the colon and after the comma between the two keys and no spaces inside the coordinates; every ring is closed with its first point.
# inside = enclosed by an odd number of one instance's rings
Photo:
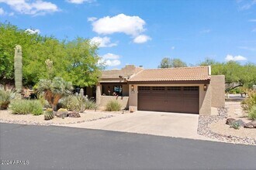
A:
{"type": "Polygon", "coordinates": [[[199,87],[139,87],[138,110],[199,113],[199,87]]]}

